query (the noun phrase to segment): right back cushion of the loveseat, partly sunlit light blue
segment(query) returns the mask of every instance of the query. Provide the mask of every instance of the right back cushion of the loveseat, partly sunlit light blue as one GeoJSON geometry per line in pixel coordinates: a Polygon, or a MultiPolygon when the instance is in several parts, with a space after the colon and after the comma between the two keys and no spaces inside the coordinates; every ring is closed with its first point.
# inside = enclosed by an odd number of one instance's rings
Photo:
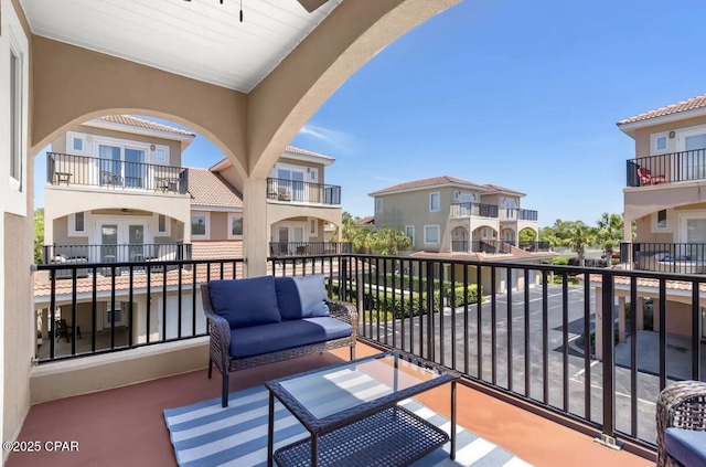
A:
{"type": "Polygon", "coordinates": [[[277,304],[284,320],[329,316],[323,274],[277,277],[277,304]]]}

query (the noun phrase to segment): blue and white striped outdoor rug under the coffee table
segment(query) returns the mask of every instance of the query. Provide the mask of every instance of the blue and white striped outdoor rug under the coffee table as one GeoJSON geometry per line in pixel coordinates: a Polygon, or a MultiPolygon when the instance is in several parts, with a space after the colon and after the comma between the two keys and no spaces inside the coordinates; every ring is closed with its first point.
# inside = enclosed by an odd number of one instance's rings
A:
{"type": "MultiPolygon", "coordinates": [[[[389,391],[386,385],[357,371],[342,372],[338,383],[346,390],[374,397],[389,391]],[[347,381],[347,384],[346,384],[347,381]],[[354,385],[351,388],[351,383],[354,385]]],[[[311,396],[317,397],[317,388],[311,396]]],[[[347,400],[329,401],[321,395],[322,403],[347,405],[347,400]]],[[[329,399],[331,399],[329,396],[329,399]]],[[[221,397],[164,411],[167,427],[176,453],[176,461],[182,467],[195,466],[266,466],[268,391],[265,386],[250,388],[229,395],[228,407],[221,407],[221,397]]],[[[410,410],[430,423],[450,433],[451,423],[425,405],[406,400],[399,405],[410,410]]],[[[276,400],[275,450],[309,435],[306,428],[276,400]]],[[[427,455],[413,464],[427,466],[478,466],[478,467],[526,467],[530,464],[505,449],[473,433],[457,426],[456,460],[449,459],[447,443],[443,448],[427,455]]]]}

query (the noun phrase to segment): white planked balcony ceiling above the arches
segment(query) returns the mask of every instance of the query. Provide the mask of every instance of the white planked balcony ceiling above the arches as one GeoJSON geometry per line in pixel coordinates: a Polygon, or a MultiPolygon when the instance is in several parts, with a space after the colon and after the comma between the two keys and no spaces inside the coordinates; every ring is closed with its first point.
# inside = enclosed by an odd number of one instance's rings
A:
{"type": "Polygon", "coordinates": [[[343,0],[21,0],[32,32],[248,93],[343,0]]]}

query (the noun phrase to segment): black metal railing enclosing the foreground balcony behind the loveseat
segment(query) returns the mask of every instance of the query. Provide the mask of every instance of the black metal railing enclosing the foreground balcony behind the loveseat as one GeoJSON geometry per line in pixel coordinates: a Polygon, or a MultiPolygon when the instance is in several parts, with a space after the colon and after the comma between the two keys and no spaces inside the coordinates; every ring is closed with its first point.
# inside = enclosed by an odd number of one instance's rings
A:
{"type": "MultiPolygon", "coordinates": [[[[672,381],[703,378],[700,304],[695,298],[688,305],[692,336],[684,339],[686,350],[675,357],[667,344],[675,337],[666,333],[666,290],[676,282],[698,290],[706,277],[374,255],[313,256],[307,257],[308,262],[301,258],[272,257],[268,274],[324,275],[331,298],[356,305],[362,341],[402,349],[452,368],[501,394],[598,428],[609,442],[627,439],[653,449],[655,406],[643,401],[656,401],[659,392],[672,381]],[[482,289],[485,298],[481,300],[480,294],[472,290],[480,288],[481,278],[488,276],[485,272],[491,277],[504,277],[505,283],[512,278],[520,288],[499,290],[501,282],[490,280],[482,289]],[[569,286],[568,278],[577,275],[590,277],[590,282],[569,286]],[[560,277],[561,284],[550,282],[552,276],[560,277]],[[645,280],[656,284],[649,299],[644,295],[645,280]],[[601,294],[596,293],[596,284],[601,285],[601,294]],[[500,291],[502,299],[496,298],[500,291]],[[654,331],[643,330],[640,319],[628,320],[627,326],[612,319],[596,325],[601,309],[613,309],[618,293],[621,306],[625,298],[632,305],[638,304],[632,307],[633,317],[651,304],[655,304],[656,310],[659,304],[659,309],[665,312],[654,312],[654,331]],[[638,338],[642,342],[640,348],[652,342],[653,359],[638,359],[638,338]],[[593,349],[593,341],[600,342],[598,349],[593,349]],[[620,351],[617,344],[622,346],[620,351]],[[596,350],[601,352],[600,359],[593,355],[596,350]],[[681,361],[673,361],[675,358],[681,361]],[[648,360],[654,360],[654,364],[648,360]],[[620,388],[619,394],[616,388],[620,388]]],[[[49,323],[43,332],[49,333],[49,339],[42,343],[44,349],[38,351],[39,363],[205,336],[205,322],[197,307],[197,285],[214,278],[243,277],[243,262],[164,262],[164,269],[170,265],[176,267],[172,273],[138,277],[133,269],[139,265],[126,264],[130,269],[128,278],[118,282],[111,277],[98,284],[96,275],[77,278],[77,265],[38,266],[40,273],[50,276],[44,285],[49,296],[44,295],[43,311],[49,323]],[[54,273],[61,267],[74,270],[71,283],[62,285],[55,280],[54,273]],[[86,294],[86,287],[100,290],[100,296],[86,294]],[[162,310],[173,311],[163,294],[168,287],[179,297],[173,309],[181,312],[163,314],[162,310]],[[159,298],[133,309],[133,297],[138,294],[159,298]],[[57,309],[60,300],[62,307],[57,309]],[[98,307],[98,300],[113,303],[111,309],[121,303],[122,316],[109,314],[103,331],[96,331],[92,325],[78,329],[79,315],[95,322],[96,310],[105,310],[98,307]],[[150,314],[159,319],[151,319],[150,314]],[[51,332],[58,319],[66,320],[73,336],[82,331],[83,339],[56,341],[51,332]],[[118,320],[124,325],[117,326],[118,320]]],[[[116,264],[90,267],[116,267],[116,264]]],[[[646,326],[646,314],[644,322],[646,326]]]]}

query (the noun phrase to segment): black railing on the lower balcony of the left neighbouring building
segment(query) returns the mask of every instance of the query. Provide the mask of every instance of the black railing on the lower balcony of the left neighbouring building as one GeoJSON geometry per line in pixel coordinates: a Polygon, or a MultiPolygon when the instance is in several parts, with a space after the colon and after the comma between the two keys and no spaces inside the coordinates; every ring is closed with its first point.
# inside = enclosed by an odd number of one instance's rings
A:
{"type": "Polygon", "coordinates": [[[191,259],[190,243],[44,245],[42,252],[44,264],[141,263],[191,259]]]}

